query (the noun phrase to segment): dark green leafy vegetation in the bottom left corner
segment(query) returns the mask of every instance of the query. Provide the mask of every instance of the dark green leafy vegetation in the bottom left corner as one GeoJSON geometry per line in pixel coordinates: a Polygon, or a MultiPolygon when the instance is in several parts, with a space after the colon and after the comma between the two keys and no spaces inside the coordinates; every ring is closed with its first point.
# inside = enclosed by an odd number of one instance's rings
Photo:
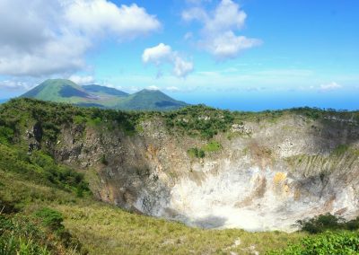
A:
{"type": "Polygon", "coordinates": [[[0,254],[87,254],[62,223],[63,216],[49,208],[34,214],[2,213],[0,254]]]}

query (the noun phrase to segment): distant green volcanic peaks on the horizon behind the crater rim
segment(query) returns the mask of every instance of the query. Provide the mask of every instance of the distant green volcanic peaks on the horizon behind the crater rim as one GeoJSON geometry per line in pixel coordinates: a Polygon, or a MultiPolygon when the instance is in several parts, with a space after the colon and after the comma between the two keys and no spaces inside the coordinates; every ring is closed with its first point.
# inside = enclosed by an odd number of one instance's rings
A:
{"type": "Polygon", "coordinates": [[[116,110],[176,110],[188,105],[160,91],[142,90],[128,94],[97,84],[80,86],[66,79],[46,80],[21,97],[116,110]]]}

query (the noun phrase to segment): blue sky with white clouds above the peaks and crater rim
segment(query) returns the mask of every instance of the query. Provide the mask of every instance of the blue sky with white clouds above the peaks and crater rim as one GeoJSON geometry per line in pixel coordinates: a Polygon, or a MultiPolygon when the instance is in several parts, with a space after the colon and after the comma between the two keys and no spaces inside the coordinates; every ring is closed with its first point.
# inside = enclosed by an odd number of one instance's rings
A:
{"type": "Polygon", "coordinates": [[[359,109],[356,0],[0,0],[0,99],[48,78],[230,110],[359,109]]]}

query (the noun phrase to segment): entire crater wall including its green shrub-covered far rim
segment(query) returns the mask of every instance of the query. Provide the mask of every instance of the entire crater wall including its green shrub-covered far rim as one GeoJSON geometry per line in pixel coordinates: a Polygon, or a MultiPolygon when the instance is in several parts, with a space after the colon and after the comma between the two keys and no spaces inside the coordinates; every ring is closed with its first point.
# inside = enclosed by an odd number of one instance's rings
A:
{"type": "Polygon", "coordinates": [[[323,110],[170,113],[11,101],[0,125],[28,154],[83,171],[97,198],[206,228],[295,229],[359,214],[359,114],[323,110]]]}

